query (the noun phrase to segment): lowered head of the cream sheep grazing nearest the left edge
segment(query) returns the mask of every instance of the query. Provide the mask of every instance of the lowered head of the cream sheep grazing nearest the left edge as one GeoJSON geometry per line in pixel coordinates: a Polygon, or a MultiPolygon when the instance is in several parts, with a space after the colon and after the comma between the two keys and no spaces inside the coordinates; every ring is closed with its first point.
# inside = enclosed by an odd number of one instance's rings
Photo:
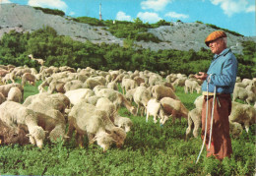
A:
{"type": "Polygon", "coordinates": [[[41,127],[35,126],[27,136],[30,137],[30,142],[32,145],[36,145],[37,147],[42,148],[43,140],[45,139],[45,133],[46,131],[44,131],[41,127]]]}

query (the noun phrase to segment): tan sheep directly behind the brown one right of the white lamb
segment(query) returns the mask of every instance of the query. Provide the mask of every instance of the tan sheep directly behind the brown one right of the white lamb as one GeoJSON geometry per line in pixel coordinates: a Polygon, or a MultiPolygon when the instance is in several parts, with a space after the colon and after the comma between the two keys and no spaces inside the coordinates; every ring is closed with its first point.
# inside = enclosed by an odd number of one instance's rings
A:
{"type": "Polygon", "coordinates": [[[171,97],[173,99],[179,99],[171,88],[160,85],[156,85],[152,88],[152,95],[157,100],[160,100],[162,97],[171,97]]]}

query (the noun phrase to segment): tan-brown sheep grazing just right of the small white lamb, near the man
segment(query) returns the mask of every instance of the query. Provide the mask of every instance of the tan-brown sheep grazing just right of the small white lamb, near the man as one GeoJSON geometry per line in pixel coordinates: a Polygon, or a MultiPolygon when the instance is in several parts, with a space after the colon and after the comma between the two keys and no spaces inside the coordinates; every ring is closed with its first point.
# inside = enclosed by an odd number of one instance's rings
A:
{"type": "MultiPolygon", "coordinates": [[[[163,107],[163,112],[165,116],[172,116],[172,122],[175,123],[175,119],[182,116],[184,118],[188,117],[188,109],[185,105],[178,99],[163,97],[160,99],[160,104],[163,107]]],[[[165,118],[163,122],[167,119],[165,118]]]]}

